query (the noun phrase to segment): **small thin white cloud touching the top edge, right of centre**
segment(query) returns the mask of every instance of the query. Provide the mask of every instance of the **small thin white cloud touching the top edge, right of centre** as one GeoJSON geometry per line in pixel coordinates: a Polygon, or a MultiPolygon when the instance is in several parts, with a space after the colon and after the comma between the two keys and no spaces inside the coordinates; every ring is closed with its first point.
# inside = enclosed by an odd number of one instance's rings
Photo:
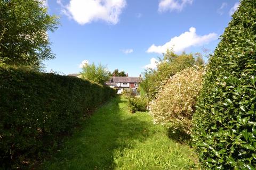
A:
{"type": "Polygon", "coordinates": [[[159,12],[166,12],[168,10],[182,11],[187,4],[192,4],[193,0],[161,0],[158,4],[159,12]]]}

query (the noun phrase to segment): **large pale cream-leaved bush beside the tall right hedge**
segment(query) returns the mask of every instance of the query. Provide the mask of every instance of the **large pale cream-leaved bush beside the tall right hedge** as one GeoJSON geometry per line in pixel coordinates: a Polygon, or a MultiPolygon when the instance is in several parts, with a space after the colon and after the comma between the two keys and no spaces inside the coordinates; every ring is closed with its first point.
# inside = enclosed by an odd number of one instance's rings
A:
{"type": "Polygon", "coordinates": [[[156,99],[149,105],[154,121],[190,134],[196,98],[202,88],[202,75],[202,69],[190,67],[164,82],[156,99]]]}

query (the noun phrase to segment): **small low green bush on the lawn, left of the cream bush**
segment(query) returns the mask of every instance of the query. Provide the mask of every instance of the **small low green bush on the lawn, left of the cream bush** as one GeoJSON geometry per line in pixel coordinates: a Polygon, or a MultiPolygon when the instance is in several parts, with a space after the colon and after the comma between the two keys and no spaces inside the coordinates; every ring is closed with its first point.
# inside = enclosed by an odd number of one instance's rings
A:
{"type": "Polygon", "coordinates": [[[128,100],[128,106],[130,109],[130,112],[135,113],[137,111],[139,112],[145,112],[147,111],[147,98],[144,97],[130,97],[128,100]]]}

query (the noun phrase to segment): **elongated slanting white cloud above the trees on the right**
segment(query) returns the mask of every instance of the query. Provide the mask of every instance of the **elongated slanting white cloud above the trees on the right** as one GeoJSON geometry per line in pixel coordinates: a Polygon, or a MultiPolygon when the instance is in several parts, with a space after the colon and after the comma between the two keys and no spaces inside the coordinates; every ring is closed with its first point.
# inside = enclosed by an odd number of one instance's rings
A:
{"type": "Polygon", "coordinates": [[[202,46],[210,43],[210,41],[218,39],[216,33],[209,33],[208,35],[200,36],[196,34],[194,27],[189,28],[189,31],[182,33],[178,37],[173,37],[169,42],[163,46],[151,45],[148,48],[148,53],[165,53],[167,49],[173,49],[175,53],[182,52],[183,50],[192,46],[202,46]]]}

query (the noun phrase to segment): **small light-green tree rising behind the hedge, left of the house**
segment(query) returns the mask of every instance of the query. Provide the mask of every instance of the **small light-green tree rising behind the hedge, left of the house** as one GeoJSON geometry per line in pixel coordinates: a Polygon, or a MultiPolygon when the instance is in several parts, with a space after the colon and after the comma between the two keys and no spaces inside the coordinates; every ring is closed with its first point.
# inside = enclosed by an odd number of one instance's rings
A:
{"type": "Polygon", "coordinates": [[[81,72],[81,78],[103,85],[106,81],[109,80],[109,71],[107,66],[102,64],[99,64],[98,66],[94,63],[85,64],[83,66],[83,71],[81,72]]]}

